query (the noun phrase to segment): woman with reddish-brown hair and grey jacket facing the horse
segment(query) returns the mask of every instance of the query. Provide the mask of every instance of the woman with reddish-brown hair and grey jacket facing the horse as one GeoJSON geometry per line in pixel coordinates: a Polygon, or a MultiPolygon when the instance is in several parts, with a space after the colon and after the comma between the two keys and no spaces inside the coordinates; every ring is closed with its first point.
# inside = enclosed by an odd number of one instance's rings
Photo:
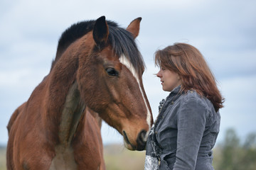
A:
{"type": "Polygon", "coordinates": [[[155,53],[164,91],[146,143],[145,169],[213,169],[223,97],[196,47],[176,43],[155,53]]]}

